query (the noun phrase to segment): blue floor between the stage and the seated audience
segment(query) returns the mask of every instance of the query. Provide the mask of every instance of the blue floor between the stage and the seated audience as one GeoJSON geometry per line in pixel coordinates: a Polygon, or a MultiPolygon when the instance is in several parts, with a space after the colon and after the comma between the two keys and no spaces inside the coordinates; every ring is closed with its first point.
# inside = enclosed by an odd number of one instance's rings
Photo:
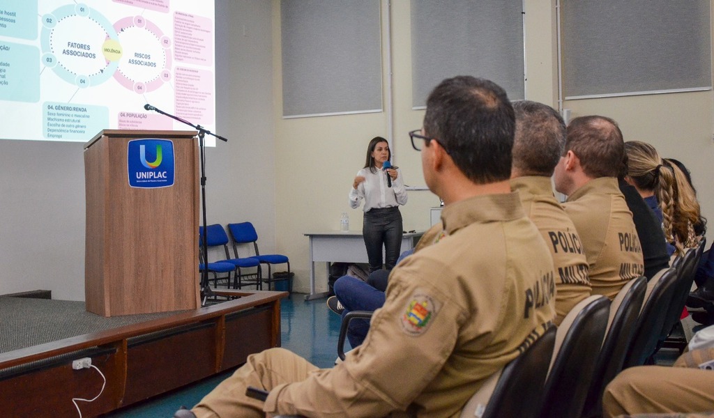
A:
{"type": "MultiPolygon", "coordinates": [[[[337,358],[340,317],[331,312],[325,299],[306,302],[305,295],[294,294],[281,301],[282,346],[305,357],[318,367],[331,367],[337,358]]],[[[348,350],[349,347],[346,347],[348,350]]],[[[184,405],[192,407],[233,371],[142,402],[134,407],[106,415],[112,418],[172,417],[184,405]]]]}

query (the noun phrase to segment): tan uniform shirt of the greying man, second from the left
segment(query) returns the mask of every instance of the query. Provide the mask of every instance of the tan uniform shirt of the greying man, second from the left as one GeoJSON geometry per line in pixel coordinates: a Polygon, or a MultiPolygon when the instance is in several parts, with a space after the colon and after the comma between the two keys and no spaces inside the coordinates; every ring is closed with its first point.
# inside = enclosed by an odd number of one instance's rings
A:
{"type": "Polygon", "coordinates": [[[531,218],[553,256],[555,267],[555,325],[571,309],[590,296],[588,259],[573,221],[553,196],[549,177],[511,179],[511,189],[521,195],[526,216],[531,218]]]}

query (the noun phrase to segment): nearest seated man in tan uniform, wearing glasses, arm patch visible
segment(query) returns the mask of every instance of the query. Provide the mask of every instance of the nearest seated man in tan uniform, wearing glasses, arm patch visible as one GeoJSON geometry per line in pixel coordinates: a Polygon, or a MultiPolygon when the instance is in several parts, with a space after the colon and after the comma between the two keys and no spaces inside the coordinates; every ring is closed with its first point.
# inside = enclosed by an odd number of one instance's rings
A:
{"type": "Polygon", "coordinates": [[[444,230],[392,270],[363,344],[331,369],[279,348],[251,355],[196,417],[458,417],[554,317],[550,253],[508,184],[514,126],[495,83],[437,86],[411,136],[444,230]],[[268,390],[266,402],[248,386],[268,390]]]}

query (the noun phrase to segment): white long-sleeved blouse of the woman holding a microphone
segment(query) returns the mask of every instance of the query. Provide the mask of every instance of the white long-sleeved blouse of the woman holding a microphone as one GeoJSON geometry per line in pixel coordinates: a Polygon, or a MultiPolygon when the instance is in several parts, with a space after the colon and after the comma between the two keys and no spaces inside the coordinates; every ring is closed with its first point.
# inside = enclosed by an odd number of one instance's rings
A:
{"type": "Polygon", "coordinates": [[[404,178],[401,170],[397,168],[397,178],[392,180],[392,187],[387,187],[386,170],[376,170],[372,173],[369,168],[363,168],[357,172],[365,178],[359,183],[357,189],[350,188],[350,207],[359,208],[360,201],[364,199],[365,212],[372,208],[391,208],[393,206],[406,203],[407,195],[404,187],[404,178]]]}

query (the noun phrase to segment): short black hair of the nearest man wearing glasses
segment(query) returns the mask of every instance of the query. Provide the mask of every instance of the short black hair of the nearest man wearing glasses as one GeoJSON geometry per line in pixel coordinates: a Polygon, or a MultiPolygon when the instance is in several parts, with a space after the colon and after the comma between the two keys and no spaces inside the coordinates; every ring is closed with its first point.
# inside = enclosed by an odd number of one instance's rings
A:
{"type": "MultiPolygon", "coordinates": [[[[511,177],[516,116],[506,91],[485,78],[447,78],[426,101],[424,132],[477,184],[511,177]]],[[[427,144],[428,145],[428,144],[427,144]]]]}

